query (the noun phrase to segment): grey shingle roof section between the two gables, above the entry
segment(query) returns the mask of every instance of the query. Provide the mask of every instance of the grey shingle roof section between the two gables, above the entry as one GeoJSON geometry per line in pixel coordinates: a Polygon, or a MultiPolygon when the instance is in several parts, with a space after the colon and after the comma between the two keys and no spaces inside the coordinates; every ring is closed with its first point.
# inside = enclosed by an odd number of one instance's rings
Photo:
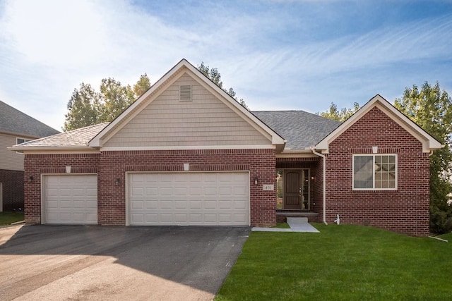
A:
{"type": "Polygon", "coordinates": [[[305,111],[253,111],[251,113],[287,140],[285,149],[313,147],[340,125],[339,121],[305,111]]]}

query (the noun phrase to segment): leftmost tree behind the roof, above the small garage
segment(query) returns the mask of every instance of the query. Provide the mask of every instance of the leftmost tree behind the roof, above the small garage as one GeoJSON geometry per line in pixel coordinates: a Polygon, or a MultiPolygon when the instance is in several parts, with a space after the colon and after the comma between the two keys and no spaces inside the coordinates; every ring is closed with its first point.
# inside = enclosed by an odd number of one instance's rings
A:
{"type": "Polygon", "coordinates": [[[100,123],[100,95],[90,84],[82,82],[79,89],[74,89],[69,99],[63,130],[75,130],[88,125],[100,123]]]}

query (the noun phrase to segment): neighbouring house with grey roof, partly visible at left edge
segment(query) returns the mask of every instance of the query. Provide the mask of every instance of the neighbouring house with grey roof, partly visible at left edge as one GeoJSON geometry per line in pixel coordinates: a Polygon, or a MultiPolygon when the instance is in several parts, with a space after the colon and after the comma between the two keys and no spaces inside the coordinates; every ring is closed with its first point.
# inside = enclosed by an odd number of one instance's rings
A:
{"type": "Polygon", "coordinates": [[[59,133],[0,101],[0,211],[23,208],[24,155],[7,147],[59,133]]]}

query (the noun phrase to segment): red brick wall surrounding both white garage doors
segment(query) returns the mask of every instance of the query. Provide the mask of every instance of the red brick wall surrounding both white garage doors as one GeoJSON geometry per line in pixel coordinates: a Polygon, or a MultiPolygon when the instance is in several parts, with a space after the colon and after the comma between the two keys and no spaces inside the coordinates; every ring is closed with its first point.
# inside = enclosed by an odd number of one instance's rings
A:
{"type": "Polygon", "coordinates": [[[274,149],[214,149],[179,151],[102,152],[102,154],[25,155],[25,220],[40,223],[42,173],[97,173],[97,216],[102,225],[126,223],[127,171],[249,171],[250,211],[252,226],[268,226],[276,222],[275,192],[263,191],[263,184],[275,184],[274,149]],[[254,178],[258,177],[258,185],[254,178]],[[115,185],[115,179],[119,185],[115,185]]]}

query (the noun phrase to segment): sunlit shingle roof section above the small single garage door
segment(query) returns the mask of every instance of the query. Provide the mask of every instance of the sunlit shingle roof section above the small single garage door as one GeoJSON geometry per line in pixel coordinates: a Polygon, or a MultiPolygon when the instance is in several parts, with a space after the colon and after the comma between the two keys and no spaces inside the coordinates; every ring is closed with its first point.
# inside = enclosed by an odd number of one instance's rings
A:
{"type": "Polygon", "coordinates": [[[95,135],[100,133],[109,123],[90,125],[66,133],[22,143],[20,147],[85,147],[95,135]]]}

